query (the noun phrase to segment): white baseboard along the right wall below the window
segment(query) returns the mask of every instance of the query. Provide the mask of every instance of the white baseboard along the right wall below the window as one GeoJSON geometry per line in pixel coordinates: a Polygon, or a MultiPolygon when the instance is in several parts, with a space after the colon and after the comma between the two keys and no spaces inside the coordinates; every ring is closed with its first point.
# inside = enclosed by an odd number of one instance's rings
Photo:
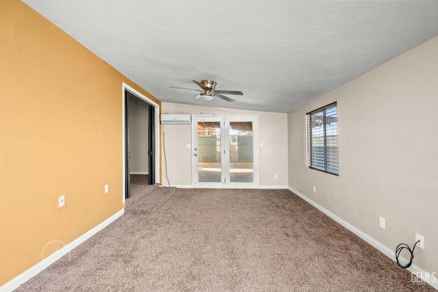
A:
{"type": "MultiPolygon", "coordinates": [[[[293,189],[292,187],[288,187],[289,191],[292,191],[292,193],[296,194],[296,196],[302,198],[302,200],[305,200],[309,204],[311,204],[316,209],[320,210],[325,215],[331,217],[331,219],[335,220],[335,222],[341,224],[348,230],[350,230],[352,233],[355,233],[355,235],[361,237],[361,239],[365,240],[366,242],[370,243],[374,248],[376,248],[378,251],[385,254],[385,256],[391,258],[394,262],[396,262],[396,252],[395,250],[391,250],[386,245],[383,245],[383,243],[377,241],[373,237],[370,237],[370,235],[364,233],[363,231],[359,230],[355,226],[352,226],[350,223],[342,220],[337,215],[332,213],[331,211],[325,209],[324,207],[320,206],[319,204],[313,202],[313,200],[307,198],[307,196],[301,194],[296,189],[293,189]]],[[[409,261],[406,258],[399,257],[399,261],[402,264],[409,263],[409,261]]],[[[430,286],[438,290],[438,279],[436,278],[437,275],[435,272],[430,273],[427,271],[424,271],[424,269],[418,267],[417,265],[411,265],[411,267],[407,268],[408,271],[410,271],[412,274],[415,274],[415,276],[421,278],[424,282],[427,282],[430,286]]]]}

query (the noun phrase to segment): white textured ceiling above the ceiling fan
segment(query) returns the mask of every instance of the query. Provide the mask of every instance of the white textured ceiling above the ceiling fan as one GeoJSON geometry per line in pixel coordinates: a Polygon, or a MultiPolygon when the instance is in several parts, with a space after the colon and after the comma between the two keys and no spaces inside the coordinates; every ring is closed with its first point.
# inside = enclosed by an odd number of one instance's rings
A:
{"type": "Polygon", "coordinates": [[[436,0],[23,0],[160,101],[289,112],[438,35],[436,0]],[[193,99],[192,79],[241,90],[193,99]]]}

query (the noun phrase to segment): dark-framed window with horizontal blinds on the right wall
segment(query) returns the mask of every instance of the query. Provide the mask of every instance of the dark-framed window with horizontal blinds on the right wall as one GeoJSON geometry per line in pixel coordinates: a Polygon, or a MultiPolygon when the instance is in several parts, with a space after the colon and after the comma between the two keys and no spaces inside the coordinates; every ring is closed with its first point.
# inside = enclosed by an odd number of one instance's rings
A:
{"type": "Polygon", "coordinates": [[[339,175],[336,103],[307,113],[307,165],[339,175]]]}

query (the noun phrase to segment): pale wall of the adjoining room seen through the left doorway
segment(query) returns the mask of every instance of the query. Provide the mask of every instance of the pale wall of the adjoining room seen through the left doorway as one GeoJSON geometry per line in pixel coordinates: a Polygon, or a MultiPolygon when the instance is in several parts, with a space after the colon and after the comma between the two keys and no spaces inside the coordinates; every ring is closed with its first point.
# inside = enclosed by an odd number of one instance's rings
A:
{"type": "Polygon", "coordinates": [[[129,98],[129,172],[149,173],[149,105],[137,98],[129,98]]]}

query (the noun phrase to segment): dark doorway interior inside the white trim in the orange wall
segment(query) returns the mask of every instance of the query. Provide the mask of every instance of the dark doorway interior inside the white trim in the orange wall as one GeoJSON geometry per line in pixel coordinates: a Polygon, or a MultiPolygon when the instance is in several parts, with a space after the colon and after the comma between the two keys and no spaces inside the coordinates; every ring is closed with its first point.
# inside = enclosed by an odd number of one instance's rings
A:
{"type": "Polygon", "coordinates": [[[148,185],[155,183],[155,107],[128,91],[125,91],[125,149],[125,198],[129,198],[131,174],[141,175],[148,185]]]}

